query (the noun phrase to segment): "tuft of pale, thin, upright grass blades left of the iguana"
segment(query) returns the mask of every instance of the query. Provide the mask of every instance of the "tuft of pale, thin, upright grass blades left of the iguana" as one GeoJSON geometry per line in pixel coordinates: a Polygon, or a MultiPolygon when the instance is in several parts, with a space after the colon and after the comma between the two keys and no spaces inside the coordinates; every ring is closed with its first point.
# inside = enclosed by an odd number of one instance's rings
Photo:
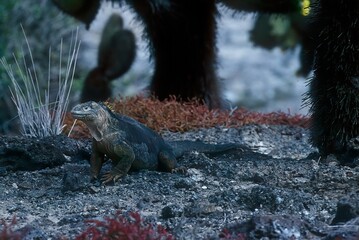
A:
{"type": "Polygon", "coordinates": [[[8,64],[5,57],[0,62],[4,66],[11,83],[12,100],[16,106],[21,123],[22,134],[29,137],[46,137],[58,135],[63,129],[63,118],[69,102],[71,86],[74,78],[76,60],[79,52],[80,42],[78,41],[78,32],[70,44],[69,56],[65,73],[62,72],[62,40],[59,53],[59,74],[58,89],[54,102],[50,102],[50,85],[51,85],[51,48],[49,49],[49,67],[47,89],[42,93],[40,90],[39,79],[32,57],[31,48],[23,30],[28,55],[30,56],[30,66],[25,58],[23,51],[22,64],[19,63],[16,56],[14,61],[16,71],[8,64]],[[64,75],[64,76],[63,76],[64,75]]]}

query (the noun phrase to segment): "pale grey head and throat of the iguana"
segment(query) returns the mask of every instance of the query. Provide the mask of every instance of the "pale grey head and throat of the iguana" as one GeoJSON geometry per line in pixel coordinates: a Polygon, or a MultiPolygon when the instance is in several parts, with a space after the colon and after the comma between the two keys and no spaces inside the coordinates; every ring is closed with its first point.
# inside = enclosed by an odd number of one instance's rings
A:
{"type": "Polygon", "coordinates": [[[102,103],[90,101],[73,107],[71,114],[75,119],[83,121],[89,128],[91,135],[100,141],[108,127],[109,111],[102,103]]]}

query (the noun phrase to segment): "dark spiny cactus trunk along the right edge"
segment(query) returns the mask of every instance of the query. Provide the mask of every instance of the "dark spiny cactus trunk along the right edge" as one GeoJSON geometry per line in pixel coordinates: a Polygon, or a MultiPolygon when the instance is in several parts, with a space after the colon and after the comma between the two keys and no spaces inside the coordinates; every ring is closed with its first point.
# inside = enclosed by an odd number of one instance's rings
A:
{"type": "Polygon", "coordinates": [[[319,0],[316,11],[311,141],[326,155],[359,135],[359,1],[319,0]]]}

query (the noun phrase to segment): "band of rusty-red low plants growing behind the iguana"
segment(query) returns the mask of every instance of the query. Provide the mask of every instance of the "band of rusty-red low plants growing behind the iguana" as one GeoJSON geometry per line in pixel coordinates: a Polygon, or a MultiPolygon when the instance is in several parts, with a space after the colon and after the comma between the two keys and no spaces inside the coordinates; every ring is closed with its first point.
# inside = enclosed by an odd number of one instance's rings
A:
{"type": "MultiPolygon", "coordinates": [[[[296,125],[308,126],[308,118],[303,115],[290,115],[283,112],[258,113],[242,108],[234,110],[210,110],[198,100],[178,102],[175,98],[159,101],[155,98],[130,97],[108,103],[117,113],[132,117],[157,132],[185,132],[199,128],[216,126],[240,127],[246,124],[296,125]]],[[[69,132],[74,119],[70,114],[65,123],[69,132]]],[[[87,127],[77,122],[71,136],[89,137],[87,127]]]]}

